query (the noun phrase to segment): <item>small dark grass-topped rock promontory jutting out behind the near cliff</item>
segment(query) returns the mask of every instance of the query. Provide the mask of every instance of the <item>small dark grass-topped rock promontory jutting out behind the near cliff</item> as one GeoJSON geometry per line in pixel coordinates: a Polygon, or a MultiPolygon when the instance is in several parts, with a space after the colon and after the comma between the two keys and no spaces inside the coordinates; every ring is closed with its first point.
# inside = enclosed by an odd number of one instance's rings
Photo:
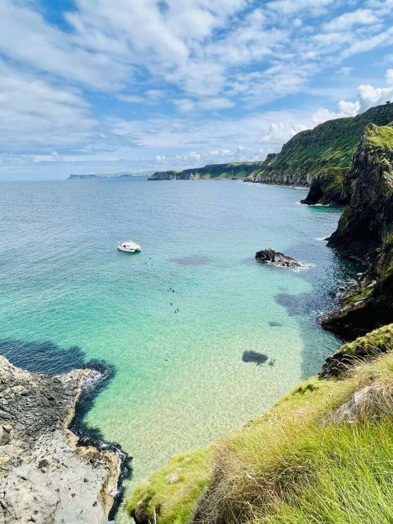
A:
{"type": "Polygon", "coordinates": [[[351,198],[350,169],[321,169],[310,184],[310,191],[301,204],[346,205],[351,198]]]}

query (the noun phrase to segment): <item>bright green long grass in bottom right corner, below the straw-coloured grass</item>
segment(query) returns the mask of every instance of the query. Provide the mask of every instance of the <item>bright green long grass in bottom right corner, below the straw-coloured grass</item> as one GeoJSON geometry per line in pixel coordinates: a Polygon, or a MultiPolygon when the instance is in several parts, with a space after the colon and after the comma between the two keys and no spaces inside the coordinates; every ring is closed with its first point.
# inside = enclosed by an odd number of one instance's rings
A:
{"type": "MultiPolygon", "coordinates": [[[[391,419],[316,428],[282,462],[287,476],[264,524],[391,524],[393,431],[391,419]]],[[[258,514],[259,508],[256,508],[258,514]]]]}

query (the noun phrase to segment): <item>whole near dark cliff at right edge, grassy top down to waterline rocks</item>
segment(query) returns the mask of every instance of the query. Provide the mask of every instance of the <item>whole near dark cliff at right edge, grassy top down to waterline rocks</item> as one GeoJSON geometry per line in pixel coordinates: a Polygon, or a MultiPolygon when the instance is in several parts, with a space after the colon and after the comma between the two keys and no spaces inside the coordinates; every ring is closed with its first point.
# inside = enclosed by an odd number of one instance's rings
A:
{"type": "Polygon", "coordinates": [[[393,321],[393,129],[366,127],[356,151],[350,204],[328,242],[367,270],[322,325],[344,337],[393,321]]]}

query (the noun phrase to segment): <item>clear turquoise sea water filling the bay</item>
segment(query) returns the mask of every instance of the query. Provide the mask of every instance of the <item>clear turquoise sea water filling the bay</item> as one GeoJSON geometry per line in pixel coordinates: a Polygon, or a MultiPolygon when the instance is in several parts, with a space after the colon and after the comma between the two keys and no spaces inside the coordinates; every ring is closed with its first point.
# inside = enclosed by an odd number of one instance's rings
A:
{"type": "Polygon", "coordinates": [[[134,457],[127,494],[269,408],[340,345],[318,315],[355,269],[318,240],[341,211],[299,205],[305,194],[238,181],[0,184],[0,351],[45,372],[115,366],[85,422],[134,457]],[[129,238],[140,254],[117,251],[129,238]],[[312,267],[256,264],[269,246],[312,267]],[[268,360],[245,363],[245,351],[268,360]]]}

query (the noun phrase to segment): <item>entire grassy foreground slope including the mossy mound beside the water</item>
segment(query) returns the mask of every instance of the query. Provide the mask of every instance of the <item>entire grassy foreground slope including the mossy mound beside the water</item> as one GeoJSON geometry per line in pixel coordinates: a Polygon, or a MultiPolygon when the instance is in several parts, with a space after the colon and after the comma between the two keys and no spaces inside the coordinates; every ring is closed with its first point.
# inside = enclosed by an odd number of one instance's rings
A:
{"type": "Polygon", "coordinates": [[[340,380],[310,378],[204,455],[172,461],[129,510],[140,501],[158,524],[390,524],[392,420],[389,352],[340,380]]]}

